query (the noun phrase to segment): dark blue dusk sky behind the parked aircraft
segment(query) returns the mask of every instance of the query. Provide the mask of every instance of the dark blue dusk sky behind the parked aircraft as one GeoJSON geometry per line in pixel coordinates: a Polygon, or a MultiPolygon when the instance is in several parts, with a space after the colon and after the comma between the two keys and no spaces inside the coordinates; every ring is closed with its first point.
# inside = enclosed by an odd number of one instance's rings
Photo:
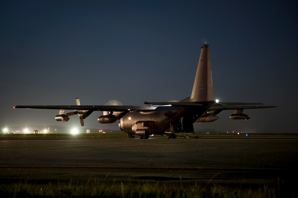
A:
{"type": "MultiPolygon", "coordinates": [[[[78,116],[16,105],[125,105],[187,98],[210,46],[215,99],[272,109],[223,111],[196,129],[298,133],[298,1],[0,1],[0,126],[81,127],[78,116]]],[[[86,128],[119,129],[84,120],[86,128]]]]}

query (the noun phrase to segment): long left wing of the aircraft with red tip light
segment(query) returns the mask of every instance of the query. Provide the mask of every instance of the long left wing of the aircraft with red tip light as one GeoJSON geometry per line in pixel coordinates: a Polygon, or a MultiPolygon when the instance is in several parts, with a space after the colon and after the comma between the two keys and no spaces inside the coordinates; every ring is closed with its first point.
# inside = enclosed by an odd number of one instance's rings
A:
{"type": "Polygon", "coordinates": [[[145,106],[145,105],[33,105],[33,106],[22,106],[18,105],[13,108],[22,109],[64,109],[64,110],[92,110],[92,111],[133,111],[133,110],[152,110],[156,107],[145,106]]]}

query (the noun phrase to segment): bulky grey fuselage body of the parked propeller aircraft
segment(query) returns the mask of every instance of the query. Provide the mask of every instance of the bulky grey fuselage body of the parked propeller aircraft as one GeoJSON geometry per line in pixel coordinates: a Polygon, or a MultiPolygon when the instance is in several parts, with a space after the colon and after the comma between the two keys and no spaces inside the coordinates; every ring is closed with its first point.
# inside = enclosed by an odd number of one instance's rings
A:
{"type": "Polygon", "coordinates": [[[132,111],[120,119],[119,128],[125,133],[138,136],[193,133],[193,123],[204,111],[193,111],[185,106],[161,106],[155,110],[132,111]]]}

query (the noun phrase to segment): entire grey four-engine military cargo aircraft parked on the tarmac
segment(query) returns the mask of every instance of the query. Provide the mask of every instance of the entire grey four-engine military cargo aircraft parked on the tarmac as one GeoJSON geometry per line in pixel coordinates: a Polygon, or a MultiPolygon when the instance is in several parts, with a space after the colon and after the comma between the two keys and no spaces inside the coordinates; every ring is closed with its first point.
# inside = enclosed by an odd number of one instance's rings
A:
{"type": "Polygon", "coordinates": [[[213,122],[223,110],[235,110],[229,118],[248,120],[250,116],[243,113],[244,109],[273,108],[262,103],[218,102],[214,100],[209,45],[204,43],[198,63],[192,94],[180,102],[145,102],[147,105],[77,105],[60,106],[15,106],[27,109],[57,109],[56,121],[69,121],[69,116],[78,114],[81,126],[84,119],[94,111],[103,111],[97,121],[114,123],[118,120],[119,128],[128,134],[128,138],[138,136],[148,139],[152,134],[166,135],[168,138],[177,136],[188,137],[194,134],[193,123],[213,122]],[[64,114],[64,110],[75,110],[64,114]]]}

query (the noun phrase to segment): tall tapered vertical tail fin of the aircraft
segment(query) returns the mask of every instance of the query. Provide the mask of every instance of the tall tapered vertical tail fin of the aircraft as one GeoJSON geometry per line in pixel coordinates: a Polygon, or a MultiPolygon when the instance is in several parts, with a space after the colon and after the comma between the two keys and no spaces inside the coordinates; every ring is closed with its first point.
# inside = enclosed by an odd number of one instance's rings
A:
{"type": "Polygon", "coordinates": [[[204,43],[198,63],[193,92],[181,102],[203,102],[214,100],[209,45],[204,43]]]}

